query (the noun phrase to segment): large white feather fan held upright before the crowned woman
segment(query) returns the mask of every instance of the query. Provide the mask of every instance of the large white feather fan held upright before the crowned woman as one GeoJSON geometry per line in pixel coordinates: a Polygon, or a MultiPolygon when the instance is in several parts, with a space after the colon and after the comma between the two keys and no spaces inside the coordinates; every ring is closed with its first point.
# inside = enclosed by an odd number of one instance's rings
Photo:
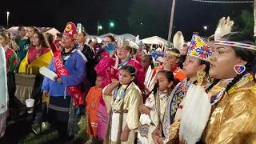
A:
{"type": "Polygon", "coordinates": [[[210,98],[202,86],[191,85],[182,111],[179,138],[182,143],[195,144],[202,137],[210,116],[210,98]]]}

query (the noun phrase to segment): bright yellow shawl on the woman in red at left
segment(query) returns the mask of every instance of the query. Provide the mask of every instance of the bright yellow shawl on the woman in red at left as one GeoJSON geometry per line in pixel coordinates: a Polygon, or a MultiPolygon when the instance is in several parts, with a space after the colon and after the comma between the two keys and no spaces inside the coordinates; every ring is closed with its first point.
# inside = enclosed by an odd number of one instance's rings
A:
{"type": "Polygon", "coordinates": [[[20,63],[18,73],[39,74],[39,69],[42,66],[48,67],[51,58],[54,55],[52,50],[50,50],[46,54],[42,54],[40,57],[36,58],[33,62],[29,64],[27,60],[28,53],[29,51],[26,53],[26,57],[23,58],[22,62],[20,63]]]}

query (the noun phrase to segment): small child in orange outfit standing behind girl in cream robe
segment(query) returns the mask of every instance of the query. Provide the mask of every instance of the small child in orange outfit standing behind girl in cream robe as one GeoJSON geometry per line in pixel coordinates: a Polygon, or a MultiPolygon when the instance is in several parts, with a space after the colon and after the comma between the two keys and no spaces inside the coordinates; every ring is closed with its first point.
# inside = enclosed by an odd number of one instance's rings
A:
{"type": "Polygon", "coordinates": [[[96,86],[90,88],[86,96],[86,119],[88,120],[88,126],[86,133],[90,134],[90,140],[86,143],[91,143],[93,137],[97,135],[98,117],[96,116],[98,111],[98,100],[102,95],[102,76],[96,78],[96,86]]]}

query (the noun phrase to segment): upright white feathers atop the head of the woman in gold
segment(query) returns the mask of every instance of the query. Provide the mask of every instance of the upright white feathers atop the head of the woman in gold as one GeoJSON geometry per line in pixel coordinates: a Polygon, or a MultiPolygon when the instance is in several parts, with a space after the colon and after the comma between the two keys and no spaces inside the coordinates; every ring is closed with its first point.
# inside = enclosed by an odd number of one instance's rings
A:
{"type": "Polygon", "coordinates": [[[229,34],[232,26],[234,26],[234,21],[230,20],[230,17],[221,18],[214,34],[215,41],[218,40],[218,38],[221,38],[223,35],[229,34]]]}

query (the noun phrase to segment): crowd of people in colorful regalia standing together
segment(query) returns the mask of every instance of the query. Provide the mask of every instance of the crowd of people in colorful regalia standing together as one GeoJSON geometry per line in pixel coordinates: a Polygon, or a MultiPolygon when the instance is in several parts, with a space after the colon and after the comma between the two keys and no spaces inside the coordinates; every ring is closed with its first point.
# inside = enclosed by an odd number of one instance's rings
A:
{"type": "Polygon", "coordinates": [[[233,25],[222,18],[214,35],[194,33],[190,45],[177,32],[172,48],[160,51],[112,35],[102,44],[88,41],[85,28],[72,22],[56,39],[34,26],[26,35],[20,26],[10,41],[0,32],[0,52],[7,79],[40,75],[42,66],[57,75],[43,78],[42,91],[60,143],[78,133],[82,109],[88,144],[256,143],[256,44],[231,32],[233,25]]]}

